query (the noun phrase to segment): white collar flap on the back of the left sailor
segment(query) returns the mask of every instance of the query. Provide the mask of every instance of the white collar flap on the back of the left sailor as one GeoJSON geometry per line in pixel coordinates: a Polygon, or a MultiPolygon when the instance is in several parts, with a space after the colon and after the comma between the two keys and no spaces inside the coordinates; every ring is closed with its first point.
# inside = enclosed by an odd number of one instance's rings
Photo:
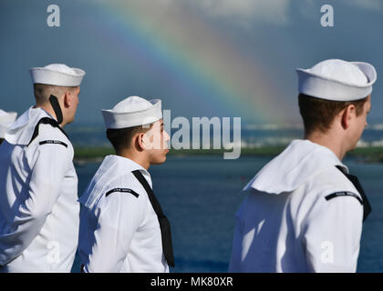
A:
{"type": "Polygon", "coordinates": [[[8,129],[5,134],[5,140],[12,145],[28,145],[35,131],[36,124],[43,117],[55,119],[43,108],[30,107],[23,115],[18,117],[16,122],[8,129]]]}

